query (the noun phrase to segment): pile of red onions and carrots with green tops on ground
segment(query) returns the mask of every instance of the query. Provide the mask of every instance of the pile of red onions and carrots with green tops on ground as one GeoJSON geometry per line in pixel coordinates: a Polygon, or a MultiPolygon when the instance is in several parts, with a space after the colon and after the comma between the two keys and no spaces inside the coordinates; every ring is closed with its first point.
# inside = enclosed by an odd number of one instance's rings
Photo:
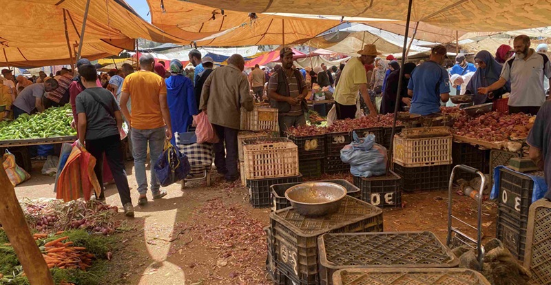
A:
{"type": "MultiPolygon", "coordinates": [[[[114,219],[117,207],[83,200],[23,200],[21,208],[55,284],[101,284],[114,247],[108,235],[124,230],[114,219]]],[[[1,227],[0,284],[29,284],[1,227]]]]}

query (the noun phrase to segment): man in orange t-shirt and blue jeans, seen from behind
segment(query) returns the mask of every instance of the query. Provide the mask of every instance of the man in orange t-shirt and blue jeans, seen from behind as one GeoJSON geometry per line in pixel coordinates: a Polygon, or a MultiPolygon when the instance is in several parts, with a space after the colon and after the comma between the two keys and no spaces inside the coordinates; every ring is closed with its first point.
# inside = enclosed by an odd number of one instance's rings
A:
{"type": "MultiPolygon", "coordinates": [[[[153,71],[155,59],[151,54],[140,57],[141,70],[126,76],[121,90],[121,110],[132,127],[132,152],[134,154],[134,169],[140,198],[138,205],[147,204],[147,176],[145,173],[145,158],[149,144],[150,165],[155,165],[163,151],[165,139],[172,138],[170,113],[167,104],[167,86],[165,79],[153,71]],[[127,102],[132,98],[132,115],[128,112],[127,102]]],[[[153,168],[153,167],[152,167],[153,168]]],[[[150,173],[151,192],[153,199],[167,195],[160,191],[160,184],[154,170],[150,173]]]]}

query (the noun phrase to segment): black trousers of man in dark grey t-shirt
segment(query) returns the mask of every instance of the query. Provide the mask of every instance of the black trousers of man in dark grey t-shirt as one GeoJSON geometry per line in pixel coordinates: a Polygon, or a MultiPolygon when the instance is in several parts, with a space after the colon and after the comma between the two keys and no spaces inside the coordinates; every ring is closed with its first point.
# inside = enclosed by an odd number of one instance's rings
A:
{"type": "Polygon", "coordinates": [[[123,206],[126,203],[132,203],[130,187],[128,187],[128,179],[126,178],[125,162],[123,161],[121,136],[116,135],[98,138],[97,140],[86,140],[86,150],[96,158],[94,172],[96,173],[100,187],[102,187],[101,195],[98,198],[105,198],[103,193],[103,154],[105,154],[107,165],[109,165],[113,174],[118,196],[121,196],[123,206]]]}

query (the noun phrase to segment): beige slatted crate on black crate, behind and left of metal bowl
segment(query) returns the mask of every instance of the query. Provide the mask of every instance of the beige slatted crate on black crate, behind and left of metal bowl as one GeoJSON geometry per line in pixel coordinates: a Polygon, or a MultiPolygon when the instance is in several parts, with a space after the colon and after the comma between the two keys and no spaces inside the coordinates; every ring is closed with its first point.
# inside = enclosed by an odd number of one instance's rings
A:
{"type": "Polygon", "coordinates": [[[287,138],[245,140],[243,170],[246,179],[298,176],[298,148],[287,138]]]}

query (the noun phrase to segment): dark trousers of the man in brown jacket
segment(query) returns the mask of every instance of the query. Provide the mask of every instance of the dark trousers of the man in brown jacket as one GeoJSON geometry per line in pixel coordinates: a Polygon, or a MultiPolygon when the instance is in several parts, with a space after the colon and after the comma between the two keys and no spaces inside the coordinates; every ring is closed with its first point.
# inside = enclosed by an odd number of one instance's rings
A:
{"type": "Polygon", "coordinates": [[[214,144],[214,165],[218,172],[225,173],[227,180],[238,178],[237,171],[237,134],[238,129],[230,129],[220,125],[212,125],[216,135],[220,138],[214,144]],[[224,142],[226,147],[224,147],[224,142]]]}

